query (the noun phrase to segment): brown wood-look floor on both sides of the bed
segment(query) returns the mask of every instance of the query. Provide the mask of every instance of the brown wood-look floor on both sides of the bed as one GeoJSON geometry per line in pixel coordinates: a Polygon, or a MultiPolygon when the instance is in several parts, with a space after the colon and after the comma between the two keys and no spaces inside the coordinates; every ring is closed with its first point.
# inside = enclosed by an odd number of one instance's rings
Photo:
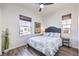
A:
{"type": "MultiPolygon", "coordinates": [[[[31,47],[22,46],[4,53],[2,56],[44,56],[44,54],[31,47]]],[[[79,56],[79,53],[76,49],[61,47],[56,56],[79,56]]]]}

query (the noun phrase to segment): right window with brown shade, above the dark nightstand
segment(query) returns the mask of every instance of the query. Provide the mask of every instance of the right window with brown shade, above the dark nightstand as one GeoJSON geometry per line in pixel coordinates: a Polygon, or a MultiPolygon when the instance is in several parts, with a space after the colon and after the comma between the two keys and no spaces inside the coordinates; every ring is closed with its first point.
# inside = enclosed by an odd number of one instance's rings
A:
{"type": "Polygon", "coordinates": [[[62,33],[70,34],[71,33],[71,14],[62,16],[62,33]]]}

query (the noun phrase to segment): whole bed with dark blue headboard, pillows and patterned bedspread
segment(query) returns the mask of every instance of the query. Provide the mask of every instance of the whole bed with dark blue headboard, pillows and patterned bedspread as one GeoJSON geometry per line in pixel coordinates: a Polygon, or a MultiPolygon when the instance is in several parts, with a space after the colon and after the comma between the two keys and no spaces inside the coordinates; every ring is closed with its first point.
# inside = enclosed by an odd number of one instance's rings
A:
{"type": "Polygon", "coordinates": [[[60,28],[48,27],[41,36],[33,36],[27,40],[27,44],[47,56],[54,56],[62,46],[60,28]]]}

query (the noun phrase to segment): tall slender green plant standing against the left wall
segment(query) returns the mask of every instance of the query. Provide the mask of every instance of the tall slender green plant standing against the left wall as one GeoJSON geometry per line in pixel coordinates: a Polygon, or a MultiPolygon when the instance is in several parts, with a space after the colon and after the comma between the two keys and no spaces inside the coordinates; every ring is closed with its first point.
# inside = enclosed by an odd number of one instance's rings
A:
{"type": "Polygon", "coordinates": [[[8,48],[9,48],[9,32],[8,32],[8,28],[6,28],[5,31],[3,31],[2,33],[2,52],[6,53],[8,52],[8,48]]]}

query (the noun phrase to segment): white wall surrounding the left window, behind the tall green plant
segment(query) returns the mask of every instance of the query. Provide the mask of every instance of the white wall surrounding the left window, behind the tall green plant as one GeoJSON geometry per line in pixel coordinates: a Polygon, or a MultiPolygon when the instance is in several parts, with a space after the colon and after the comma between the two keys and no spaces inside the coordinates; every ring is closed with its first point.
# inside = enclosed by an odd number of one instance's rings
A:
{"type": "Polygon", "coordinates": [[[28,16],[32,18],[32,33],[34,33],[34,22],[42,23],[42,18],[29,10],[26,7],[19,4],[5,4],[2,7],[2,29],[9,29],[9,38],[10,38],[10,48],[13,49],[26,44],[27,36],[20,37],[19,35],[19,14],[28,16]]]}

